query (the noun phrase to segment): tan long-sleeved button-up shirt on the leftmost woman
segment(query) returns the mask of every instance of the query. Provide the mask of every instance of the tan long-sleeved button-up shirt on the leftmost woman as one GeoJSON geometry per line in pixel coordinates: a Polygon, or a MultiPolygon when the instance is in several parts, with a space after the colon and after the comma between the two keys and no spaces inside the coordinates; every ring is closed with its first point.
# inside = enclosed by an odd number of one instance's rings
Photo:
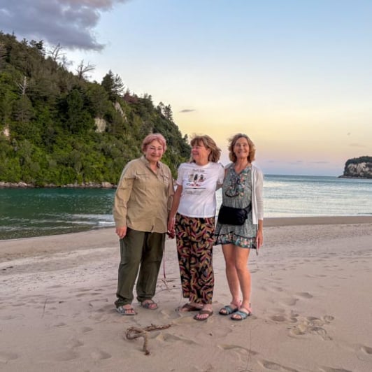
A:
{"type": "Polygon", "coordinates": [[[115,226],[165,233],[173,194],[168,166],[159,162],[155,173],[145,157],[132,160],[124,167],[115,192],[115,226]]]}

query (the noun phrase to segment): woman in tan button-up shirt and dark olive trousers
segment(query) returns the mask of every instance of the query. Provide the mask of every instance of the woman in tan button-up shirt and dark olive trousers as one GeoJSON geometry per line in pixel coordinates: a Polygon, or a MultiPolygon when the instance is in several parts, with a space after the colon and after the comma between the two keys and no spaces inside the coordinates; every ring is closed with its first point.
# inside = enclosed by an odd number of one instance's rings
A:
{"type": "Polygon", "coordinates": [[[122,315],[136,314],[131,303],[137,276],[137,300],[143,308],[157,308],[152,297],[155,295],[174,194],[171,170],[160,162],[166,151],[166,140],[162,134],[146,136],[142,151],[141,158],[124,167],[113,209],[116,234],[120,238],[115,306],[122,315]]]}

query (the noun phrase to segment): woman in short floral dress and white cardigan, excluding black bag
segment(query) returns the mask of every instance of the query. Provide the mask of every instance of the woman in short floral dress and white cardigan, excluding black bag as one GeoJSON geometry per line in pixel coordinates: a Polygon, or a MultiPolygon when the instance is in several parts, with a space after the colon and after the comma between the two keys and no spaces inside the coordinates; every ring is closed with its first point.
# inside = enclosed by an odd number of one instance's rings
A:
{"type": "Polygon", "coordinates": [[[252,165],[255,145],[245,134],[236,134],[229,143],[231,164],[226,167],[222,186],[222,205],[245,208],[250,206],[242,225],[222,224],[215,228],[216,243],[222,245],[226,263],[226,276],[231,292],[231,303],[220,310],[232,320],[248,317],[250,308],[251,278],[248,269],[250,251],[258,252],[264,241],[264,203],[262,198],[262,171],[252,165]],[[242,295],[242,298],[241,298],[242,295]]]}

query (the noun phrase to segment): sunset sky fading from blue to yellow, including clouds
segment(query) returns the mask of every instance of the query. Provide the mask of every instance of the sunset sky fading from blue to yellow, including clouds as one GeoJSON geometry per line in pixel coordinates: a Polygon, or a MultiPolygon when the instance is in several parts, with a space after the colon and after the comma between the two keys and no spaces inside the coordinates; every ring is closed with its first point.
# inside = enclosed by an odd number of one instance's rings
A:
{"type": "Polygon", "coordinates": [[[340,176],[372,156],[371,0],[0,0],[0,29],[62,45],[183,135],[250,136],[265,174],[340,176]]]}

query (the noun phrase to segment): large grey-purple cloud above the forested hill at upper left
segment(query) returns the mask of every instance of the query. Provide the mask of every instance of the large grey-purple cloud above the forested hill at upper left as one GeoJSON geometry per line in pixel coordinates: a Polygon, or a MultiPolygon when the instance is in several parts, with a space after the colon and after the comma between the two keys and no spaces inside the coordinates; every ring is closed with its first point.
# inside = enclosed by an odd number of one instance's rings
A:
{"type": "Polygon", "coordinates": [[[100,13],[129,0],[0,0],[0,29],[64,48],[102,50],[94,27],[100,13]]]}

